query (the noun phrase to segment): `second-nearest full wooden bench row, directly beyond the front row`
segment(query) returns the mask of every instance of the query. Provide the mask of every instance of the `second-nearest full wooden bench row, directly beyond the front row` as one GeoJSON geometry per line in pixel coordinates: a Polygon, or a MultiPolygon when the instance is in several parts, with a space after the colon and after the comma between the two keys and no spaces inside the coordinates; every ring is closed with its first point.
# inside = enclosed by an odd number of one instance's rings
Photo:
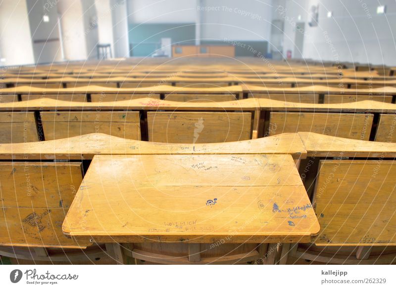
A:
{"type": "Polygon", "coordinates": [[[116,102],[36,99],[0,105],[0,142],[30,142],[102,132],[128,139],[211,143],[311,131],[395,142],[396,105],[365,100],[304,104],[269,99],[116,102]]]}

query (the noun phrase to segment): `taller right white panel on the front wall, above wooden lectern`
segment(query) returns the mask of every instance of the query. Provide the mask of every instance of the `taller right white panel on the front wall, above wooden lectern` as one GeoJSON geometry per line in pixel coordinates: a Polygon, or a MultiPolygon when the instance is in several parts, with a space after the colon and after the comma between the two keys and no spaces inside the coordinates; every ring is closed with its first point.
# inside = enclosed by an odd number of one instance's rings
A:
{"type": "Polygon", "coordinates": [[[272,0],[202,0],[201,39],[269,41],[272,0]],[[206,9],[206,11],[205,11],[206,9]]]}

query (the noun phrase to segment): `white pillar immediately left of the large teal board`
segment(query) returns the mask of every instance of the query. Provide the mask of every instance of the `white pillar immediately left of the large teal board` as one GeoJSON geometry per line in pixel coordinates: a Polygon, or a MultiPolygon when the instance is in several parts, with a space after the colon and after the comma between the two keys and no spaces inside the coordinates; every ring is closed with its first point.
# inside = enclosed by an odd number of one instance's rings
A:
{"type": "Polygon", "coordinates": [[[114,55],[115,57],[129,57],[128,12],[126,0],[111,0],[114,55]]]}

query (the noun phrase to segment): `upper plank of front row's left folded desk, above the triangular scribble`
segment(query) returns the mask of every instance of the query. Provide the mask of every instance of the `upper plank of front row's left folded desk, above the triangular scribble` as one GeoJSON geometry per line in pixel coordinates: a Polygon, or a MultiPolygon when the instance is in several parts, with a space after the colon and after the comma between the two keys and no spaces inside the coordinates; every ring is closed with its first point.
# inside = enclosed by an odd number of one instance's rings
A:
{"type": "Polygon", "coordinates": [[[81,163],[0,162],[1,206],[68,208],[82,180],[81,163]]]}

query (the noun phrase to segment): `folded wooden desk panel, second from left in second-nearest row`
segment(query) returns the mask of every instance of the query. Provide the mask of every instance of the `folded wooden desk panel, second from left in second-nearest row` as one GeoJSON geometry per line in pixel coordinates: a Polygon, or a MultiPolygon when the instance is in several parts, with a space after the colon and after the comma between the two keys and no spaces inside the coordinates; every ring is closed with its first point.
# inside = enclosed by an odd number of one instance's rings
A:
{"type": "Polygon", "coordinates": [[[94,132],[141,137],[139,112],[42,112],[41,117],[47,140],[94,132]]]}

